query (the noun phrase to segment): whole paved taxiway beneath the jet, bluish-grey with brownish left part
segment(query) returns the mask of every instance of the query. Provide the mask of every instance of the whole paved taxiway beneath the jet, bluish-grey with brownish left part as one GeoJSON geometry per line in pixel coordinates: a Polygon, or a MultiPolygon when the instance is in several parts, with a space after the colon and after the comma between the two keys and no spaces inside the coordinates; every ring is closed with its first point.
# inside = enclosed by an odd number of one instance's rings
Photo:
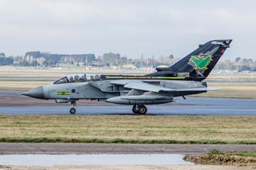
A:
{"type": "MultiPolygon", "coordinates": [[[[0,90],[0,114],[69,114],[70,105],[54,100],[39,100],[20,95],[23,91],[0,90]]],[[[256,116],[256,99],[244,98],[175,98],[163,105],[146,105],[147,114],[256,116]]],[[[79,100],[76,114],[133,114],[132,105],[115,105],[96,100],[79,100]]]]}

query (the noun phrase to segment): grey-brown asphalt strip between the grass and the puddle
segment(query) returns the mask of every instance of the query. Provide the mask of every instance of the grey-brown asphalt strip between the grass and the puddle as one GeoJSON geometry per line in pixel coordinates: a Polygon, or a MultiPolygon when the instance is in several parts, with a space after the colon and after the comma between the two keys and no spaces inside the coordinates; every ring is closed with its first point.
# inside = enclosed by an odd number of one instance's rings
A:
{"type": "Polygon", "coordinates": [[[103,143],[0,143],[0,155],[9,154],[150,154],[256,151],[256,144],[103,144],[103,143]]]}

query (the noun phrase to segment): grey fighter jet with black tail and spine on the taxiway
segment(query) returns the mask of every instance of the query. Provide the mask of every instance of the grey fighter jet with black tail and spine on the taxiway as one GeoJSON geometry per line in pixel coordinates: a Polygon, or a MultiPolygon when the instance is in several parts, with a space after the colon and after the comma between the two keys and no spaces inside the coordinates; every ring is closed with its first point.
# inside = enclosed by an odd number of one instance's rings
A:
{"type": "MultiPolygon", "coordinates": [[[[232,40],[212,40],[199,45],[188,56],[168,68],[156,68],[147,75],[74,74],[38,86],[22,95],[57,103],[70,102],[70,114],[76,113],[77,100],[98,100],[113,104],[133,105],[132,112],[146,114],[150,104],[173,102],[173,97],[205,93],[207,78],[232,40]]],[[[159,106],[160,107],[160,106],[159,106]]]]}

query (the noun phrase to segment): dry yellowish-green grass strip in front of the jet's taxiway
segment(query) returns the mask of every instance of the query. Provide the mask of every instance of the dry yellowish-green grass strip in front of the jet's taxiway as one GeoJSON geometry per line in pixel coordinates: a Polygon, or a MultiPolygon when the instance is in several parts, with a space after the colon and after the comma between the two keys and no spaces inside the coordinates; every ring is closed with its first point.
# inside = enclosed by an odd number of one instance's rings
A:
{"type": "Polygon", "coordinates": [[[256,144],[256,116],[0,115],[0,142],[256,144]]]}

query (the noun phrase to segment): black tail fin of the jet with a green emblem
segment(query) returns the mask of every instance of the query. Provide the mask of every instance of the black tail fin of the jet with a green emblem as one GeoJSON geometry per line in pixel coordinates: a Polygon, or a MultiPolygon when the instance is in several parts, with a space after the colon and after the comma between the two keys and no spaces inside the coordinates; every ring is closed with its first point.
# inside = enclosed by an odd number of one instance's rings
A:
{"type": "Polygon", "coordinates": [[[157,73],[184,73],[194,80],[202,81],[209,75],[225,50],[230,47],[231,42],[232,40],[212,40],[199,45],[198,49],[169,68],[157,69],[157,73]]]}

